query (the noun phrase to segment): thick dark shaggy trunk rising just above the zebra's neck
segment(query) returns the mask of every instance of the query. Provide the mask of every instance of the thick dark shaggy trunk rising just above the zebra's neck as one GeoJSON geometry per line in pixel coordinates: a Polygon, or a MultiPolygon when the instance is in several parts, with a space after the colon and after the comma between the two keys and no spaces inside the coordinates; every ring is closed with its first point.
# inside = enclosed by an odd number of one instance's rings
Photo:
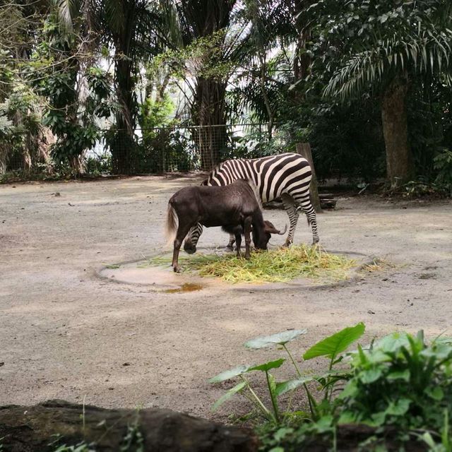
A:
{"type": "Polygon", "coordinates": [[[201,154],[201,169],[210,171],[220,162],[227,146],[225,119],[226,83],[213,78],[196,78],[196,96],[191,114],[194,141],[201,154]]]}

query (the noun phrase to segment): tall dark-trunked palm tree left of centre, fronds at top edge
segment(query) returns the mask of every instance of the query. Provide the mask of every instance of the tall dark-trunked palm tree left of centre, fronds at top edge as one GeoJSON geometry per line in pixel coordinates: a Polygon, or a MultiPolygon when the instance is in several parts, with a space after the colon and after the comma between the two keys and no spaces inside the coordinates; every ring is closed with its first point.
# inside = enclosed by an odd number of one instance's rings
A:
{"type": "Polygon", "coordinates": [[[138,114],[136,81],[141,64],[150,61],[174,37],[172,1],[148,0],[53,0],[61,23],[68,30],[83,23],[95,32],[97,48],[114,50],[114,85],[119,108],[107,141],[113,171],[129,174],[136,147],[138,114]],[[165,37],[165,40],[163,39],[165,37]]]}

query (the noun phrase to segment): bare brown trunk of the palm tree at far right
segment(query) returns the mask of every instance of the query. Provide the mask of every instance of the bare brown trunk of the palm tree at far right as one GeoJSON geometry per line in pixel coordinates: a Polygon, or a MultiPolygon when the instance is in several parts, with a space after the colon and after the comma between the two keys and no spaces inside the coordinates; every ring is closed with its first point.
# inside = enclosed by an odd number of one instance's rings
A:
{"type": "Polygon", "coordinates": [[[406,83],[394,80],[386,88],[381,105],[386,146],[386,175],[391,188],[408,182],[413,174],[405,105],[407,89],[406,83]]]}

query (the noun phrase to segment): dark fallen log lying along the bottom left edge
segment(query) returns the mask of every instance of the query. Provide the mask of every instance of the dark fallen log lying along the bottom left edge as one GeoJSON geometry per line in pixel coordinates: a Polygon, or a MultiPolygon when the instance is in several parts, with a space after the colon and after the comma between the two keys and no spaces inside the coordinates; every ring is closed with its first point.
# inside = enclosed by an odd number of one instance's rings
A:
{"type": "Polygon", "coordinates": [[[2,437],[1,450],[8,452],[53,452],[81,441],[102,452],[138,450],[124,448],[127,441],[141,442],[145,452],[257,451],[256,437],[239,427],[160,408],[107,410],[63,400],[0,407],[2,437]]]}

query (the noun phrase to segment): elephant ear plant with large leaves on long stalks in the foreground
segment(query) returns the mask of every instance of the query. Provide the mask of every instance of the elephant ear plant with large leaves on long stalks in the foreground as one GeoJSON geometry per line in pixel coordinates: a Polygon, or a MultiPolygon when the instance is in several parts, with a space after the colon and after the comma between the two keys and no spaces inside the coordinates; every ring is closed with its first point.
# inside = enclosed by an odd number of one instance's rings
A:
{"type": "Polygon", "coordinates": [[[290,352],[287,347],[288,343],[306,333],[307,330],[305,329],[284,331],[283,333],[255,338],[246,342],[244,346],[251,350],[268,347],[278,347],[279,350],[283,350],[285,355],[287,355],[289,362],[295,369],[294,378],[285,381],[276,381],[275,376],[271,373],[273,369],[278,369],[286,362],[286,358],[283,357],[258,365],[242,365],[222,372],[210,379],[210,383],[220,383],[232,379],[238,379],[239,383],[215,402],[213,410],[218,409],[222,403],[225,403],[225,401],[234,396],[234,394],[240,393],[254,405],[266,420],[274,424],[280,424],[281,422],[284,422],[287,417],[290,417],[290,412],[280,409],[278,398],[289,391],[295,391],[295,389],[302,387],[306,392],[309,402],[311,419],[313,421],[319,420],[323,407],[328,405],[331,401],[335,384],[339,381],[347,380],[350,377],[350,373],[340,369],[333,369],[333,367],[343,360],[343,355],[341,354],[347,350],[347,347],[362,336],[364,333],[364,323],[358,323],[356,326],[344,328],[338,333],[316,343],[304,353],[303,359],[305,361],[316,357],[328,358],[328,371],[320,375],[304,373],[302,369],[300,369],[299,364],[297,364],[297,360],[292,355],[292,352],[290,352]],[[258,396],[255,389],[252,387],[249,376],[254,372],[261,372],[261,374],[265,376],[270,406],[266,405],[263,398],[258,396]],[[311,381],[320,383],[320,391],[323,393],[323,400],[320,403],[314,398],[307,386],[307,383],[311,381]]]}

